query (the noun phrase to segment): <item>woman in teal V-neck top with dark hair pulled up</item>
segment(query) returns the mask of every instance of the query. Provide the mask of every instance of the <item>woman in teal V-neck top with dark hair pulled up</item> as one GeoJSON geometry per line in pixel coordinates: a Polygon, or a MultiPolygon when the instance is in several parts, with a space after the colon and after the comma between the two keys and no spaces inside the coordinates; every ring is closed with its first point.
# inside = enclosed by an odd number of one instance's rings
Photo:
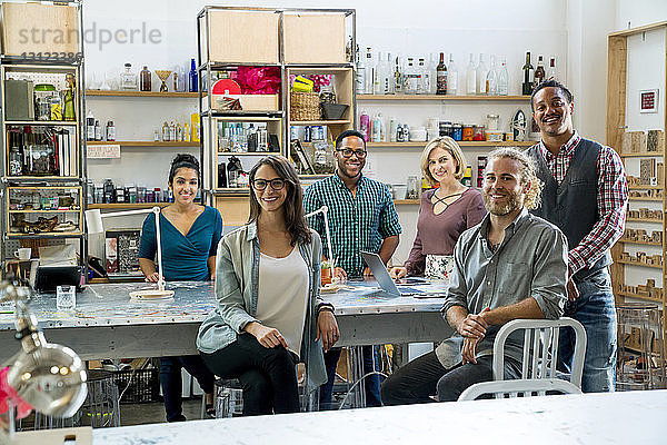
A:
{"type": "MultiPolygon", "coordinates": [[[[222,235],[220,212],[195,202],[199,189],[199,162],[192,155],[177,155],[169,171],[173,204],[160,214],[162,275],[167,281],[207,281],[216,274],[216,253],[222,235]]],[[[155,214],[143,221],[139,266],[147,281],[157,283],[155,214]]],[[[199,382],[207,394],[207,411],[213,409],[213,374],[200,356],[160,358],[160,383],[167,422],[185,421],[181,412],[181,367],[199,382]]]]}

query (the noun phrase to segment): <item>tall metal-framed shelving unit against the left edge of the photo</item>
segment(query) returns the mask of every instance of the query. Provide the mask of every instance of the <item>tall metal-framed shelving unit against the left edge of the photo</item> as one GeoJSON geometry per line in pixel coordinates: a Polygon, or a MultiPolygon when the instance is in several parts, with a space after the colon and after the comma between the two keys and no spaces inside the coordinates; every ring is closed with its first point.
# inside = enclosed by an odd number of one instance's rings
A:
{"type": "MultiPolygon", "coordinates": [[[[0,6],[3,8],[13,8],[14,4],[18,8],[22,8],[23,6],[20,1],[1,1],[0,6]]],[[[82,17],[82,2],[77,1],[61,1],[61,2],[52,2],[52,1],[36,1],[30,3],[30,8],[38,8],[41,13],[43,13],[44,8],[72,8],[72,10],[59,9],[58,12],[54,13],[57,16],[59,12],[62,13],[72,13],[72,18],[74,24],[78,26],[78,52],[70,55],[64,52],[66,57],[57,58],[51,55],[56,52],[41,52],[41,49],[36,48],[36,52],[22,52],[21,56],[16,55],[4,55],[0,56],[0,97],[2,99],[0,107],[2,107],[2,112],[0,113],[0,127],[2,128],[2,137],[0,138],[0,148],[2,152],[2,161],[0,162],[0,206],[2,211],[4,212],[4,217],[0,218],[0,233],[1,233],[1,245],[0,245],[0,260],[1,260],[1,275],[4,276],[6,267],[7,267],[7,244],[10,240],[40,240],[40,239],[78,239],[79,240],[79,254],[80,254],[80,264],[86,266],[87,258],[87,236],[83,231],[83,211],[86,210],[86,129],[84,129],[84,116],[86,116],[86,103],[83,100],[83,91],[84,91],[84,57],[83,57],[83,17],[82,17]],[[21,72],[26,73],[26,76],[34,76],[39,75],[67,75],[72,73],[76,81],[76,97],[74,97],[74,112],[76,120],[74,121],[44,121],[44,120],[7,120],[6,109],[4,109],[4,95],[6,88],[4,82],[7,80],[7,75],[11,72],[21,72]],[[48,127],[73,127],[74,128],[74,137],[73,140],[76,142],[74,155],[71,160],[74,161],[74,166],[70,166],[76,169],[76,175],[70,175],[67,177],[63,176],[11,176],[9,174],[9,141],[7,139],[8,136],[8,127],[11,126],[48,126],[48,127]],[[34,189],[38,192],[41,191],[56,191],[58,189],[78,189],[79,192],[79,208],[78,209],[63,209],[63,210],[34,210],[34,209],[10,209],[10,196],[9,190],[17,189],[34,189]],[[36,215],[43,214],[47,216],[52,216],[54,214],[63,214],[71,215],[73,212],[78,212],[78,229],[76,231],[62,231],[62,233],[40,233],[40,234],[22,234],[22,233],[10,233],[10,218],[12,215],[24,214],[24,215],[36,215]]],[[[2,22],[7,19],[4,13],[2,14],[2,22]]],[[[34,18],[38,19],[37,17],[34,18]]],[[[39,19],[44,19],[44,17],[40,17],[39,19]]],[[[33,23],[34,24],[34,23],[33,23]]],[[[39,24],[39,23],[37,23],[39,24]]],[[[50,28],[58,26],[58,23],[50,23],[50,28]]],[[[64,26],[64,24],[63,24],[64,26]]],[[[69,34],[68,34],[69,36],[69,34]]],[[[57,46],[58,43],[52,43],[57,46]]],[[[66,44],[66,43],[62,43],[66,44]]],[[[3,51],[7,50],[7,47],[3,48],[3,51]]],[[[29,49],[27,49],[28,51],[29,49]]],[[[54,50],[53,50],[54,51],[54,50]]],[[[63,53],[63,52],[58,52],[63,53]]],[[[59,158],[59,161],[62,162],[62,159],[59,158]]]]}

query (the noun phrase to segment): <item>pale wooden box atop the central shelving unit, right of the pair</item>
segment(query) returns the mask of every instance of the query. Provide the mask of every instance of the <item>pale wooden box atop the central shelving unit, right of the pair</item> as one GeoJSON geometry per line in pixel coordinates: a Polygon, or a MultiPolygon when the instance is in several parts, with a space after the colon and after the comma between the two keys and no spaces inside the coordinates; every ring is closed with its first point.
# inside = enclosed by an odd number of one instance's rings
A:
{"type": "Polygon", "coordinates": [[[346,63],[345,14],[288,14],[282,21],[285,63],[346,63]]]}

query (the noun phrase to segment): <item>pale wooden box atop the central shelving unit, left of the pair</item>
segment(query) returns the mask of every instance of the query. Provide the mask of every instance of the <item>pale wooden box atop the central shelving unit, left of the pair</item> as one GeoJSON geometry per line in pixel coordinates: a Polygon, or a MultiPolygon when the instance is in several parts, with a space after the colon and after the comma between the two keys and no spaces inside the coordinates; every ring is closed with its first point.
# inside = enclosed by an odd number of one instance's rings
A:
{"type": "Polygon", "coordinates": [[[210,11],[210,61],[278,63],[278,17],[275,12],[210,11]]]}

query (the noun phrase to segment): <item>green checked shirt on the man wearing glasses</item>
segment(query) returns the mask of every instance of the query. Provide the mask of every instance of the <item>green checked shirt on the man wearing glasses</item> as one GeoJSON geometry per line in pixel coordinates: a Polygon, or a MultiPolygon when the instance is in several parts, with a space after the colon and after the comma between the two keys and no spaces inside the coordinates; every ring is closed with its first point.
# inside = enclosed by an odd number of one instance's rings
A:
{"type": "MultiPolygon", "coordinates": [[[[401,231],[389,190],[382,182],[365,176],[357,182],[356,196],[352,196],[338,175],[331,175],[306,188],[306,214],[322,206],[329,208],[335,265],[350,276],[364,274],[366,264],[359,250],[379,253],[385,238],[401,231]]],[[[328,256],[323,215],[318,214],[308,219],[310,227],[322,238],[322,254],[328,256]]]]}

